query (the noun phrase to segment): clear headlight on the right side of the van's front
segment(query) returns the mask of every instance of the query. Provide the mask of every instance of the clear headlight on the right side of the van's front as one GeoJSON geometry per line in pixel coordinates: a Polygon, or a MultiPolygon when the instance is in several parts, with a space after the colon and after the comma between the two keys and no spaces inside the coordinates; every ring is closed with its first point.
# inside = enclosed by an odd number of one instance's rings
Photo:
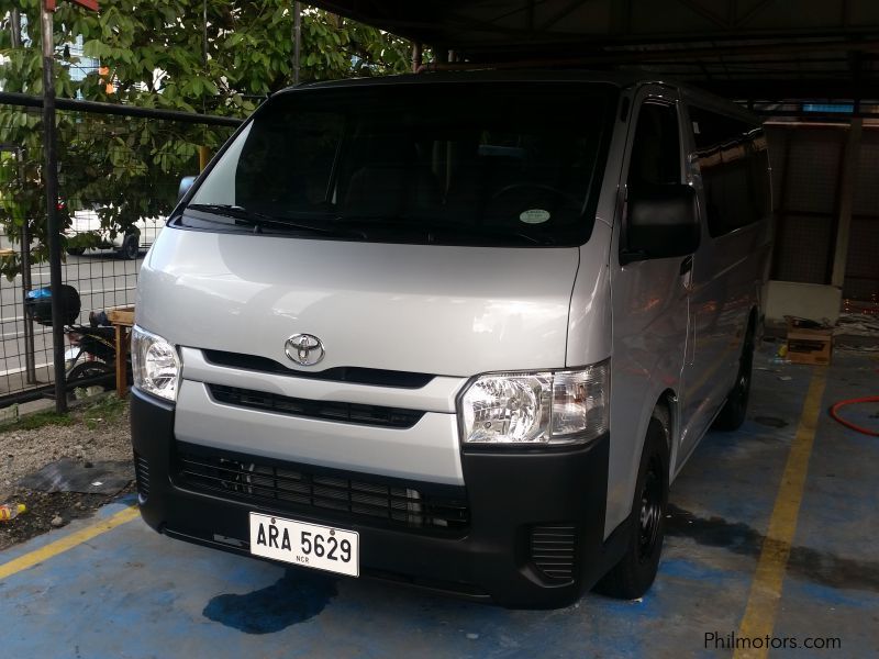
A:
{"type": "Polygon", "coordinates": [[[590,442],[609,426],[607,361],[579,370],[480,376],[460,399],[465,444],[590,442]]]}

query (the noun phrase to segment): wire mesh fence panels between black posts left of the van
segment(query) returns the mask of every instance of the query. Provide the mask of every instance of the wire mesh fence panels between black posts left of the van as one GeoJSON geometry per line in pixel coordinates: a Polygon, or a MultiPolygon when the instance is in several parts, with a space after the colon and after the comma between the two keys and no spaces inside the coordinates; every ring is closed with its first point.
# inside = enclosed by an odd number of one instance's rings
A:
{"type": "MultiPolygon", "coordinates": [[[[38,99],[0,92],[0,407],[54,387],[52,327],[34,319],[41,293],[32,292],[49,286],[41,112],[38,99]]],[[[62,271],[80,302],[65,333],[68,389],[112,387],[112,328],[100,328],[100,313],[134,304],[180,178],[240,122],[60,99],[57,115],[62,271]]]]}

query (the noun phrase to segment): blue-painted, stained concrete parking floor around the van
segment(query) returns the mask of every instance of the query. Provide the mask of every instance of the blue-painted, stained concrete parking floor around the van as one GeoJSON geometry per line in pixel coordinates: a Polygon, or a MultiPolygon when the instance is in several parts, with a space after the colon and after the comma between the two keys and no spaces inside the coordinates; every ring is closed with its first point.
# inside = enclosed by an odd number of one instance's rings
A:
{"type": "MultiPolygon", "coordinates": [[[[659,576],[643,601],[588,594],[558,611],[505,611],[288,571],[165,538],[140,518],[120,524],[120,503],[0,552],[0,656],[728,656],[705,637],[741,635],[749,602],[758,625],[788,645],[770,656],[879,656],[879,439],[826,414],[834,401],[879,393],[879,361],[834,356],[811,459],[805,454],[801,505],[779,507],[819,371],[771,365],[770,354],[756,359],[772,370],[755,371],[744,427],[709,434],[672,487],[659,576]],[[780,563],[780,599],[761,608],[768,587],[757,566],[768,554],[774,510],[792,511],[795,533],[791,527],[789,558],[780,563]],[[108,520],[119,525],[98,533],[108,520]],[[82,541],[87,535],[94,537],[82,541]],[[71,547],[56,554],[58,540],[71,547]],[[841,647],[805,650],[806,637],[835,638],[841,647]]],[[[850,415],[877,427],[868,418],[876,410],[850,415]]]]}

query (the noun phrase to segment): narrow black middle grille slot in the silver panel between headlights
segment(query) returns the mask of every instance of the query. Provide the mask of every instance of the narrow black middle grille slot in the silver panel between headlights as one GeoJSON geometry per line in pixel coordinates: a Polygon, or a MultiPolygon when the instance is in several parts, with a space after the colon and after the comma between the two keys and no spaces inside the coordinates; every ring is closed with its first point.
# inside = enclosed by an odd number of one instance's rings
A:
{"type": "Polygon", "coordinates": [[[354,423],[361,425],[385,426],[391,428],[411,428],[424,412],[404,410],[402,407],[385,407],[381,405],[361,405],[356,403],[340,403],[334,401],[315,401],[299,399],[265,391],[240,389],[224,384],[209,384],[211,395],[219,403],[289,414],[291,416],[307,416],[324,421],[354,423]]]}

